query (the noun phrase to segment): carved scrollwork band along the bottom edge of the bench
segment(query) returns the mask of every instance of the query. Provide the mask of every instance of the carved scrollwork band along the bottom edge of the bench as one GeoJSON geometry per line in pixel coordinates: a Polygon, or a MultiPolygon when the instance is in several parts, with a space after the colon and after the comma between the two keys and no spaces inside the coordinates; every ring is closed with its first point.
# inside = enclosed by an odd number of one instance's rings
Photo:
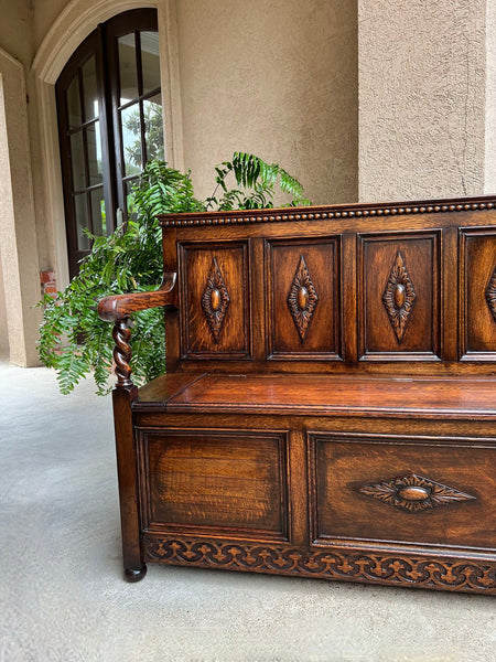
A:
{"type": "Polygon", "coordinates": [[[496,564],[292,547],[145,538],[147,559],[252,573],[496,594],[496,564]]]}

